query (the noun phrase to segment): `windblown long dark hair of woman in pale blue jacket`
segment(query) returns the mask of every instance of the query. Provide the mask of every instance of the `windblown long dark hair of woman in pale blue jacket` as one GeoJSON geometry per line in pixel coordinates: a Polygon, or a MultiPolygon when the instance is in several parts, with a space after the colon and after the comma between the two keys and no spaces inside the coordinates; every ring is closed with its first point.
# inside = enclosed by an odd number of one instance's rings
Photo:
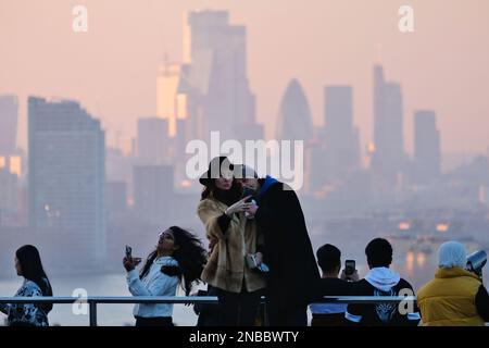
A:
{"type": "MultiPolygon", "coordinates": [[[[178,249],[173,251],[172,258],[178,262],[178,268],[180,270],[178,276],[180,283],[183,282],[183,288],[185,294],[188,296],[190,294],[192,283],[200,281],[200,275],[202,273],[203,266],[208,260],[208,252],[203,248],[202,243],[193,234],[178,226],[170,227],[175,237],[175,245],[178,249]]],[[[140,278],[142,279],[149,272],[151,264],[156,259],[158,251],[152,251],[141,270],[140,278]]]]}

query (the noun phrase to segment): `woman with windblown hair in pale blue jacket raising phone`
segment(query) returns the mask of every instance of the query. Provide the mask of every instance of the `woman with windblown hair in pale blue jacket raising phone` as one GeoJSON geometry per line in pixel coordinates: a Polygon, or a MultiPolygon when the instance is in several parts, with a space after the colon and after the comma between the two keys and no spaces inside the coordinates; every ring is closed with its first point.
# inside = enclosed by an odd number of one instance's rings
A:
{"type": "MultiPolygon", "coordinates": [[[[123,260],[127,271],[127,285],[134,296],[175,296],[181,283],[190,294],[192,283],[199,282],[206,251],[191,233],[172,226],[159,235],[156,250],[152,251],[141,270],[135,270],[141,260],[128,254],[123,260]]],[[[137,303],[133,311],[136,326],[173,326],[173,304],[137,303]]]]}

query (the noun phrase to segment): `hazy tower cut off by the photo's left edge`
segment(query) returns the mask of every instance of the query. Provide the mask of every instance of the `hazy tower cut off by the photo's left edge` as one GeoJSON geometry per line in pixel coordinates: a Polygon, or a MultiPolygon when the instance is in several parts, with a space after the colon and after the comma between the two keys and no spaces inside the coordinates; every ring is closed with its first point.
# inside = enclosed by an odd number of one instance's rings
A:
{"type": "Polygon", "coordinates": [[[15,96],[0,96],[0,156],[12,156],[17,140],[18,102],[15,96]]]}

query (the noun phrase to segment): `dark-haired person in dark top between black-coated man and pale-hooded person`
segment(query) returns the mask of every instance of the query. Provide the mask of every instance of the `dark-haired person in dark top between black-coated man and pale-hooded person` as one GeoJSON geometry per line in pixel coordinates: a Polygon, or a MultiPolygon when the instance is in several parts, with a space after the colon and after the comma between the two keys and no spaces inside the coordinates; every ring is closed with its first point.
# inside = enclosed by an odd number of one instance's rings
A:
{"type": "MultiPolygon", "coordinates": [[[[341,270],[341,251],[326,244],[316,251],[317,264],[323,272],[319,281],[321,296],[351,296],[353,293],[353,282],[359,281],[356,270],[352,275],[347,276],[343,272],[339,276],[341,270]]],[[[312,313],[311,326],[338,326],[346,325],[348,321],[344,319],[344,312],[348,304],[346,303],[312,303],[310,310],[312,313]]]]}

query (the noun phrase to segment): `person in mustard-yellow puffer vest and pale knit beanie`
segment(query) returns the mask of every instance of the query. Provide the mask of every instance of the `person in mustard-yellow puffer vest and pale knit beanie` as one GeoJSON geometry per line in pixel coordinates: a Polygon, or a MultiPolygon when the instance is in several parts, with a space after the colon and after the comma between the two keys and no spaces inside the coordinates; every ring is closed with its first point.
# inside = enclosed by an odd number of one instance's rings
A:
{"type": "Polygon", "coordinates": [[[465,248],[447,241],[438,249],[435,278],[417,294],[417,303],[426,326],[481,326],[489,322],[489,295],[481,279],[464,270],[465,248]]]}

